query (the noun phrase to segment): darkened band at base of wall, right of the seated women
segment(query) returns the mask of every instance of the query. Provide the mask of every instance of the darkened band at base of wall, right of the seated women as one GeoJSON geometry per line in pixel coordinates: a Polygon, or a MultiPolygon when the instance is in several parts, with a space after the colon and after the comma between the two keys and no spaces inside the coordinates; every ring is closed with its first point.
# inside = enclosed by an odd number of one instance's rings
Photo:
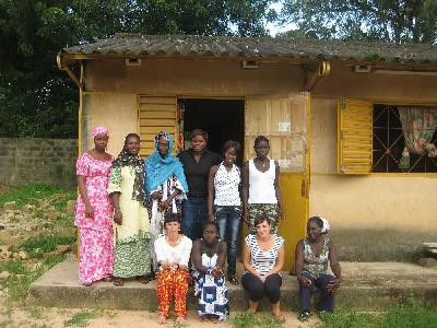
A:
{"type": "Polygon", "coordinates": [[[395,230],[340,230],[329,233],[343,261],[417,262],[423,255],[421,244],[436,242],[436,235],[426,232],[395,230]]]}

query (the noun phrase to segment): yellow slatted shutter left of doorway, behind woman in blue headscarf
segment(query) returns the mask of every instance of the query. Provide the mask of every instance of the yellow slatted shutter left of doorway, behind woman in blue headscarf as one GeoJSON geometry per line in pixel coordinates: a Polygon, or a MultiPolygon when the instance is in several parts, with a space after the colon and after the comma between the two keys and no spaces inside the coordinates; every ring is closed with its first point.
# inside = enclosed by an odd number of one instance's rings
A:
{"type": "Polygon", "coordinates": [[[142,157],[154,152],[154,138],[160,131],[170,133],[176,144],[179,132],[176,96],[139,95],[138,115],[142,157]]]}

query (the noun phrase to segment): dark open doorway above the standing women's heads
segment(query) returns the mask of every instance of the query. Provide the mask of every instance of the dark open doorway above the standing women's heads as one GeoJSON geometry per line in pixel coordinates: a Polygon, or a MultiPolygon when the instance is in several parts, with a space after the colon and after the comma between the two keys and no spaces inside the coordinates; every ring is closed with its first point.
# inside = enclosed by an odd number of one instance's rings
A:
{"type": "Polygon", "coordinates": [[[243,164],[245,141],[245,101],[244,99],[210,99],[182,98],[185,149],[189,148],[189,134],[193,129],[205,130],[209,134],[208,148],[221,154],[227,140],[238,141],[241,151],[237,165],[243,164]]]}

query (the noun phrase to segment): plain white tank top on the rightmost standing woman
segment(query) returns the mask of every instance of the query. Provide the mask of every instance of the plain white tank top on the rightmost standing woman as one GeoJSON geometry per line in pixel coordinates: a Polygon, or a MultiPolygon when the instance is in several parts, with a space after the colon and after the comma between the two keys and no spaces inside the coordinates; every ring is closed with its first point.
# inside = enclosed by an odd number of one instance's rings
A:
{"type": "Polygon", "coordinates": [[[270,160],[269,169],[260,172],[255,166],[253,159],[249,161],[249,203],[277,203],[274,191],[276,165],[270,160]]]}

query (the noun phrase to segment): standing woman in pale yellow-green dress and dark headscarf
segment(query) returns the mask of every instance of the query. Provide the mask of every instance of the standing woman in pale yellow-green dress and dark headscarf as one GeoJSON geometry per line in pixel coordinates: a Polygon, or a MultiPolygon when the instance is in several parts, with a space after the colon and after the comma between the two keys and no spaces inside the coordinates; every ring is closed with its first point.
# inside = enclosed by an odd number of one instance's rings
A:
{"type": "Polygon", "coordinates": [[[114,284],[133,278],[147,283],[151,273],[150,224],[143,191],[144,162],[138,155],[140,137],[129,133],[125,147],[113,162],[108,192],[114,204],[114,284]]]}

